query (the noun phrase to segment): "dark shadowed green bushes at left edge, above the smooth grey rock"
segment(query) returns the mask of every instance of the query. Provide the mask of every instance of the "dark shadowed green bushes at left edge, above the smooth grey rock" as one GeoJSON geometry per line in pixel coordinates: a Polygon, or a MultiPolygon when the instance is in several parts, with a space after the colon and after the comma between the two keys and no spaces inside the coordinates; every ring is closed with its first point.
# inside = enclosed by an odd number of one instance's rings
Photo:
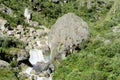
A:
{"type": "MultiPolygon", "coordinates": [[[[12,37],[0,37],[0,59],[11,62],[13,55],[9,54],[12,50],[23,49],[25,44],[12,37]]],[[[14,56],[15,57],[15,56],[14,56]]]]}

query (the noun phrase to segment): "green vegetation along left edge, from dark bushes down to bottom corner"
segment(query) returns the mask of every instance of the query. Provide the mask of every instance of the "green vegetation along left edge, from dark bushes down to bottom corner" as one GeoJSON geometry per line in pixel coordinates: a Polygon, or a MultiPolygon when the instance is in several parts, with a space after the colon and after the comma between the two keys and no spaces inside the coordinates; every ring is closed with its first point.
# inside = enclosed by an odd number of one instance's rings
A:
{"type": "Polygon", "coordinates": [[[25,44],[12,37],[0,37],[0,59],[10,63],[9,68],[0,68],[0,80],[24,80],[23,77],[19,78],[19,70],[17,60],[13,60],[15,55],[9,54],[9,51],[15,51],[24,48],[25,44]]]}

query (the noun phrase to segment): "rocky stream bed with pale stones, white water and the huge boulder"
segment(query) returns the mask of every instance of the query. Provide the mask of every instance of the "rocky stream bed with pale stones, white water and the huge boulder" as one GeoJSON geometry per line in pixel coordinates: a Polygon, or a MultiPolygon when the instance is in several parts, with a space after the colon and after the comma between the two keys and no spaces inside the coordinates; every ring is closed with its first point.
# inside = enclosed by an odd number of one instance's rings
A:
{"type": "Polygon", "coordinates": [[[51,29],[22,25],[9,28],[6,24],[7,21],[1,19],[0,35],[14,37],[25,44],[24,48],[12,50],[10,54],[17,56],[18,66],[22,68],[19,75],[25,75],[28,80],[52,80],[54,62],[80,49],[81,44],[89,38],[87,23],[73,13],[58,18],[51,29]]]}

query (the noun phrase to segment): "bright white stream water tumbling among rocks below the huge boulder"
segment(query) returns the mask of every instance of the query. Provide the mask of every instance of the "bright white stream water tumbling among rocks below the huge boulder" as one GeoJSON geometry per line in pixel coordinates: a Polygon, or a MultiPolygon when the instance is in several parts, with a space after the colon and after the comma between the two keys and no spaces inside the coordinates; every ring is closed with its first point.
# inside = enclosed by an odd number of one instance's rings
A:
{"type": "MultiPolygon", "coordinates": [[[[44,62],[47,63],[49,62],[49,58],[44,57],[42,50],[38,49],[31,49],[29,51],[30,58],[29,62],[34,66],[37,64],[37,62],[44,62]]],[[[33,67],[28,67],[24,73],[27,74],[27,77],[29,80],[52,80],[52,77],[39,77],[39,75],[36,75],[35,73],[32,73],[33,67]]]]}

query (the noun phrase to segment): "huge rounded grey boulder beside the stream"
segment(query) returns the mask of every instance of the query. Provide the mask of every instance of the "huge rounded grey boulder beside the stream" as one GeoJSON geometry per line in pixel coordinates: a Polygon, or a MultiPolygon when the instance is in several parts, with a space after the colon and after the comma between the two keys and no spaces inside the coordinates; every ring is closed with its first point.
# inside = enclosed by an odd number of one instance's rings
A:
{"type": "Polygon", "coordinates": [[[63,15],[58,18],[48,35],[51,60],[64,59],[67,53],[80,47],[88,38],[89,27],[83,19],[74,13],[63,15]]]}

